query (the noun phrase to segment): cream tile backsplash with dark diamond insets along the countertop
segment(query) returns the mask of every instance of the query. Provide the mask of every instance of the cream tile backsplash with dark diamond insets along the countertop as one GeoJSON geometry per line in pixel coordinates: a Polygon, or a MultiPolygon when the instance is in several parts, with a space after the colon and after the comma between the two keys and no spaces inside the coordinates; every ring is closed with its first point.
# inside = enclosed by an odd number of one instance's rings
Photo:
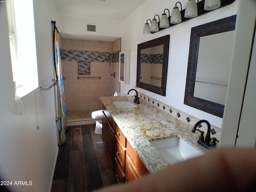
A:
{"type": "MultiPolygon", "coordinates": [[[[159,110],[162,110],[164,112],[166,112],[167,114],[169,114],[170,116],[188,124],[188,129],[193,128],[193,126],[196,124],[196,122],[198,122],[200,119],[190,115],[190,114],[186,114],[176,108],[173,108],[171,106],[168,106],[158,100],[155,100],[154,98],[151,98],[149,96],[146,96],[145,94],[142,94],[140,92],[138,92],[139,94],[139,98],[140,100],[144,100],[150,104],[152,104],[153,106],[155,106],[156,108],[158,108],[159,110]]],[[[198,128],[202,131],[204,131],[204,136],[207,132],[207,125],[205,123],[202,123],[198,126],[198,128]]],[[[199,133],[196,133],[199,134],[199,133]]],[[[217,138],[218,140],[220,140],[220,128],[211,125],[211,138],[217,138]]]]}

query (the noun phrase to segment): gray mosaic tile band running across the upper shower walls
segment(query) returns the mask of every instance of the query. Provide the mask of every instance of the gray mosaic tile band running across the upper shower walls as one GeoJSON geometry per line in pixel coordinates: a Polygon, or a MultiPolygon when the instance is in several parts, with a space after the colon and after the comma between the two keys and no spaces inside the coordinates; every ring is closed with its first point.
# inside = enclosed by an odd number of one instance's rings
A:
{"type": "Polygon", "coordinates": [[[61,50],[60,57],[62,61],[84,61],[84,62],[109,62],[109,55],[112,62],[119,62],[119,51],[98,52],[98,51],[79,51],[79,50],[61,50]]]}

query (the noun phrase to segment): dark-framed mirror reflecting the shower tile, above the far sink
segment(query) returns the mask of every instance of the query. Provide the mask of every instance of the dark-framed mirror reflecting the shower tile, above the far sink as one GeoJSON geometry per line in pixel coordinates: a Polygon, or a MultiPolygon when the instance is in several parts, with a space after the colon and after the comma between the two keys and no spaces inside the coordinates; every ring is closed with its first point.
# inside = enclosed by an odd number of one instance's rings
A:
{"type": "Polygon", "coordinates": [[[136,86],[166,95],[170,35],[138,44],[136,86]]]}

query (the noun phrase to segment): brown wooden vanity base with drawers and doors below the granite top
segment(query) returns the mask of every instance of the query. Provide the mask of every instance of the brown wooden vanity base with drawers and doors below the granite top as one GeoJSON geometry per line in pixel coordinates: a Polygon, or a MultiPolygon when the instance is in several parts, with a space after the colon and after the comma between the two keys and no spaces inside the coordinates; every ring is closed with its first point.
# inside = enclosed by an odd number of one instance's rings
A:
{"type": "Polygon", "coordinates": [[[150,173],[103,105],[102,140],[119,183],[150,173]]]}

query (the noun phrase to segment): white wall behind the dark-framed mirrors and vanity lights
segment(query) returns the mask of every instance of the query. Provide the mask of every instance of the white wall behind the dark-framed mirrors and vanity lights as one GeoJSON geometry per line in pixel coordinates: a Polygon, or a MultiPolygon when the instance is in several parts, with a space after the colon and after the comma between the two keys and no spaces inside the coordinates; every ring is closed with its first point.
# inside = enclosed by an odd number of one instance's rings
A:
{"type": "MultiPolygon", "coordinates": [[[[182,9],[186,8],[187,0],[180,0],[180,2],[183,5],[182,9]]],[[[122,22],[121,51],[129,50],[131,52],[131,70],[130,84],[121,84],[120,92],[126,94],[128,90],[134,88],[136,84],[137,45],[170,34],[166,96],[160,96],[141,88],[136,89],[143,94],[168,104],[169,106],[191,114],[196,118],[206,119],[211,124],[221,127],[222,118],[183,104],[188,66],[190,31],[194,26],[237,14],[238,0],[231,5],[193,18],[192,20],[188,20],[176,26],[172,26],[155,34],[142,34],[147,19],[152,20],[155,14],[161,16],[165,8],[168,8],[171,13],[175,3],[176,0],[147,0],[122,22]]]]}

